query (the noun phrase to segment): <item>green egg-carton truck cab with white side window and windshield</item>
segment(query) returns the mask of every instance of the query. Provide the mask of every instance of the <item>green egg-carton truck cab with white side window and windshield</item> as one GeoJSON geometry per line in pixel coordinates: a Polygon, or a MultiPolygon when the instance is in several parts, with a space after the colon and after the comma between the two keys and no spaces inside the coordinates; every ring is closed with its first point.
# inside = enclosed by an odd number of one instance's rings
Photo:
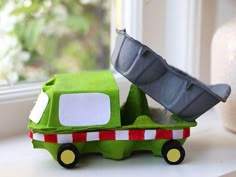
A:
{"type": "Polygon", "coordinates": [[[115,79],[109,71],[55,75],[43,85],[29,118],[35,132],[120,127],[115,79]]]}

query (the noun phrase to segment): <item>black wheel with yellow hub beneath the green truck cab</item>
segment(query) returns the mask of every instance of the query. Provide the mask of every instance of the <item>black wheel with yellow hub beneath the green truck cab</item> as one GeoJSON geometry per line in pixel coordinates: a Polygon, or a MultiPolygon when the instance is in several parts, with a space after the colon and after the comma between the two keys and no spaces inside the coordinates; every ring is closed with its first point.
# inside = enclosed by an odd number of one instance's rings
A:
{"type": "Polygon", "coordinates": [[[74,168],[79,161],[79,151],[73,144],[63,144],[57,151],[57,161],[64,168],[74,168]]]}

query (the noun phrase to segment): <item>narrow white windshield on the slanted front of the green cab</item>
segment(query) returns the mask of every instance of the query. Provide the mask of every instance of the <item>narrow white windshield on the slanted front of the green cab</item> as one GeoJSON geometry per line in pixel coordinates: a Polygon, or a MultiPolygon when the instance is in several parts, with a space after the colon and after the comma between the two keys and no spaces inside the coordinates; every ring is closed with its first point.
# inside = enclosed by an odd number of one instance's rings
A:
{"type": "Polygon", "coordinates": [[[34,105],[34,108],[29,115],[29,119],[32,120],[34,123],[39,123],[47,104],[48,96],[46,93],[41,91],[34,105]]]}

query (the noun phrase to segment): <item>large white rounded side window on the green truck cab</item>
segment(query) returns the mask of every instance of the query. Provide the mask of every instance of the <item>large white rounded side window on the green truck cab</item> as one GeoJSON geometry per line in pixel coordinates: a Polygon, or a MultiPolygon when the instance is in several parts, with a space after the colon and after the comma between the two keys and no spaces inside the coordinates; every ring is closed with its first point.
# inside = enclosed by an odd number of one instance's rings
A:
{"type": "Polygon", "coordinates": [[[59,120],[64,126],[105,125],[110,120],[110,97],[103,93],[63,94],[59,120]]]}

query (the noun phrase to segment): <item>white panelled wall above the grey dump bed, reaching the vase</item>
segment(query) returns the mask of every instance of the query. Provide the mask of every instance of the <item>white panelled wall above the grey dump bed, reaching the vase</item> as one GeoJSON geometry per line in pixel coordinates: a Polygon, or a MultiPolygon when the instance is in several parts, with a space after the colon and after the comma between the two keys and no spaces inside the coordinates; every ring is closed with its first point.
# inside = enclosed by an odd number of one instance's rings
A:
{"type": "Polygon", "coordinates": [[[210,83],[212,36],[218,27],[236,17],[236,0],[143,3],[143,42],[169,64],[210,83]]]}

